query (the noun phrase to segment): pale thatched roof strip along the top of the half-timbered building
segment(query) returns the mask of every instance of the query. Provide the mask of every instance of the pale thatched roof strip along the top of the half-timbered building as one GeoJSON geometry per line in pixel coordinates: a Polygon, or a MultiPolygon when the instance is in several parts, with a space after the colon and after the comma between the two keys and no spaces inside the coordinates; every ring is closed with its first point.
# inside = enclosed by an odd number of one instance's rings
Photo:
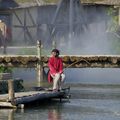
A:
{"type": "MultiPolygon", "coordinates": [[[[0,0],[0,9],[55,5],[60,0],[0,0]]],[[[81,0],[82,4],[120,5],[120,0],[81,0]]]]}

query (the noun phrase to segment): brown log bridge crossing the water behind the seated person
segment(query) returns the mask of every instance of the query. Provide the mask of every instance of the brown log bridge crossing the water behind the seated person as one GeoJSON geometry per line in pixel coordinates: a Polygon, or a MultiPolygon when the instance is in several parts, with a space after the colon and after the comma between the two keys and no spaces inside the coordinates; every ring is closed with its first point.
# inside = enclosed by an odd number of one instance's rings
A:
{"type": "MultiPolygon", "coordinates": [[[[70,68],[119,68],[120,55],[62,55],[64,67],[70,68]]],[[[42,63],[47,67],[49,56],[0,56],[0,65],[8,67],[37,67],[42,63]]]]}

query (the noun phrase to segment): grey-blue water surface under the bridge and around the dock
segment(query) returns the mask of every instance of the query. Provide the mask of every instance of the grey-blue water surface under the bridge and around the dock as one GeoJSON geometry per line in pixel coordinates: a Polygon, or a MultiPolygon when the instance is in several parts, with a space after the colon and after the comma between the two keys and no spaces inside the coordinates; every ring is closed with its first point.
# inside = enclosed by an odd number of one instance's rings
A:
{"type": "MultiPolygon", "coordinates": [[[[35,71],[18,71],[15,77],[32,83],[35,71]]],[[[120,119],[119,69],[69,69],[65,73],[65,84],[71,86],[70,101],[42,102],[24,110],[0,109],[0,120],[120,119]]]]}

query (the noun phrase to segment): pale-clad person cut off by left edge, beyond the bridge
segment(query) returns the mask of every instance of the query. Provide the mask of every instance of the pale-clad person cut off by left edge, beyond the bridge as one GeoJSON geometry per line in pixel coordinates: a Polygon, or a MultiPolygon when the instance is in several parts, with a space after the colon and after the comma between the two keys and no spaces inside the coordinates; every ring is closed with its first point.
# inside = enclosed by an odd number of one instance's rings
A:
{"type": "Polygon", "coordinates": [[[3,54],[6,54],[6,24],[0,20],[0,41],[1,41],[1,46],[3,46],[3,54]]]}

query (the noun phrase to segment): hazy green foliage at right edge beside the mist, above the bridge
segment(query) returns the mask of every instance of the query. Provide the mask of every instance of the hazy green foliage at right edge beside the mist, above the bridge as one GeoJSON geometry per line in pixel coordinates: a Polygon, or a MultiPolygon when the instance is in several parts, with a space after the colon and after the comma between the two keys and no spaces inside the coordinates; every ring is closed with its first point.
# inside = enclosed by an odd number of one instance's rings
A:
{"type": "Polygon", "coordinates": [[[110,43],[112,45],[111,53],[120,54],[120,26],[118,22],[118,8],[109,8],[107,9],[107,13],[110,16],[110,20],[108,21],[107,32],[109,33],[109,41],[111,41],[110,43]]]}

